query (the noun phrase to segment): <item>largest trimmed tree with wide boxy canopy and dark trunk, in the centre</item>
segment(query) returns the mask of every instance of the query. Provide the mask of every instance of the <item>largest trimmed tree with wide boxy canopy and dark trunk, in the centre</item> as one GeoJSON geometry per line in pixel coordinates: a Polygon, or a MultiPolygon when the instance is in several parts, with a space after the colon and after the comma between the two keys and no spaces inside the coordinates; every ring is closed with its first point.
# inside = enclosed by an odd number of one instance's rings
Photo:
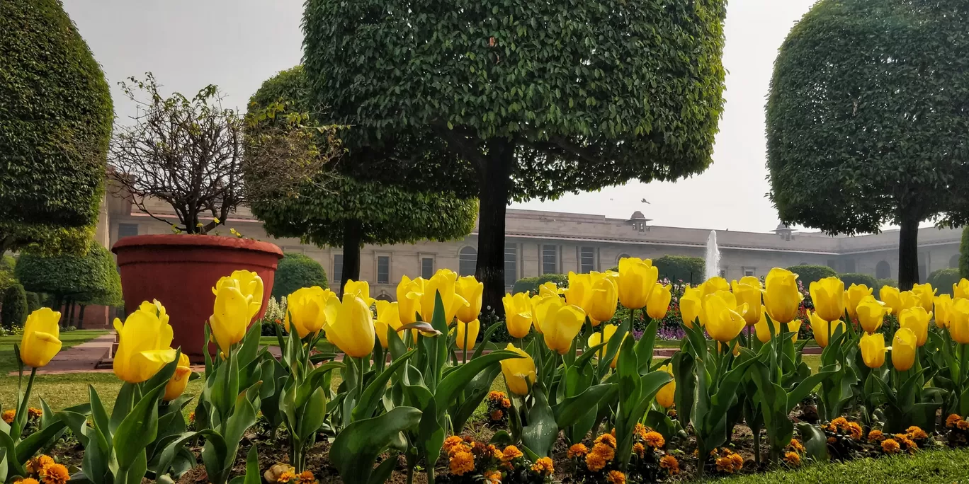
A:
{"type": "Polygon", "coordinates": [[[308,0],[304,65],[325,121],[360,128],[351,149],[429,130],[465,162],[419,186],[476,182],[476,275],[500,309],[509,202],[709,166],[725,5],[308,0]]]}

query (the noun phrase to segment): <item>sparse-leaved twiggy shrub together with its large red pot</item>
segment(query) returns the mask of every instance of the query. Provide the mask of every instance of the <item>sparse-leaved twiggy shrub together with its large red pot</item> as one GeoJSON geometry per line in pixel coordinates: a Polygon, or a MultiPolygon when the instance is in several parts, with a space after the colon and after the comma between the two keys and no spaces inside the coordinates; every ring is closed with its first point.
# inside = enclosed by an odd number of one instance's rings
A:
{"type": "MultiPolygon", "coordinates": [[[[291,124],[280,129],[293,134],[275,136],[277,142],[260,145],[265,150],[260,156],[246,157],[242,139],[248,121],[222,106],[216,86],[206,86],[192,98],[179,93],[166,98],[150,74],[121,85],[139,111],[130,125],[115,128],[109,146],[110,190],[170,224],[174,232],[125,237],[114,244],[125,310],[135,310],[144,300],[162,301],[174,330],[172,346],[199,359],[203,323],[215,298],[211,287],[234,270],[254,271],[265,284],[265,308],[276,264],[283,257],[275,245],[242,238],[234,230],[231,237],[210,234],[261,190],[245,186],[243,172],[270,172],[273,176],[263,179],[271,186],[298,184],[327,163],[335,150],[293,159],[285,143],[302,142],[302,136],[291,124]],[[177,224],[151,210],[156,200],[172,207],[177,224]]],[[[256,318],[262,318],[262,311],[256,318]]]]}

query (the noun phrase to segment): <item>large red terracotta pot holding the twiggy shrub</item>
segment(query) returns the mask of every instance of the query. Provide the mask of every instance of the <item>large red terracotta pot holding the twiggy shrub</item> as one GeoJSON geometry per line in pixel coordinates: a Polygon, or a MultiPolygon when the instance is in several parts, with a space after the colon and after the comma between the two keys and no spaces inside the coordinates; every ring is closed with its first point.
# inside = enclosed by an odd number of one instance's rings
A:
{"type": "Polygon", "coordinates": [[[193,361],[203,358],[203,325],[212,314],[212,287],[219,278],[240,269],[258,273],[265,291],[256,318],[262,318],[283,257],[268,242],[212,235],[135,235],[111,251],[121,269],[125,311],[137,310],[141,301],[161,301],[174,332],[172,347],[181,347],[193,361]]]}

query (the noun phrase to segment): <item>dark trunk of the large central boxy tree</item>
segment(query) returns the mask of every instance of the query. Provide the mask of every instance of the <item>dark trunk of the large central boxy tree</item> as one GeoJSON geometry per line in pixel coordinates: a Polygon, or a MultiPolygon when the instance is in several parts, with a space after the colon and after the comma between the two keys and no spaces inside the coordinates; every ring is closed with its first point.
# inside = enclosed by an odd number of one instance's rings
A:
{"type": "Polygon", "coordinates": [[[515,143],[506,138],[489,140],[481,168],[475,276],[485,283],[482,298],[485,311],[491,308],[501,317],[505,314],[501,303],[505,293],[505,211],[512,190],[515,143]]]}

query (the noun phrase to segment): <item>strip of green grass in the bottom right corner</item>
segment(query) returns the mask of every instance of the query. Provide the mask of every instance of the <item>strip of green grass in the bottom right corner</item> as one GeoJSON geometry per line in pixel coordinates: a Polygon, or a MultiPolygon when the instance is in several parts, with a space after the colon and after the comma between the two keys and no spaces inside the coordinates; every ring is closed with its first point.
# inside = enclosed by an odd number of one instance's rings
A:
{"type": "Polygon", "coordinates": [[[730,479],[723,484],[848,484],[868,482],[969,482],[969,449],[920,451],[914,456],[859,459],[847,464],[818,464],[797,470],[775,470],[730,479]]]}

